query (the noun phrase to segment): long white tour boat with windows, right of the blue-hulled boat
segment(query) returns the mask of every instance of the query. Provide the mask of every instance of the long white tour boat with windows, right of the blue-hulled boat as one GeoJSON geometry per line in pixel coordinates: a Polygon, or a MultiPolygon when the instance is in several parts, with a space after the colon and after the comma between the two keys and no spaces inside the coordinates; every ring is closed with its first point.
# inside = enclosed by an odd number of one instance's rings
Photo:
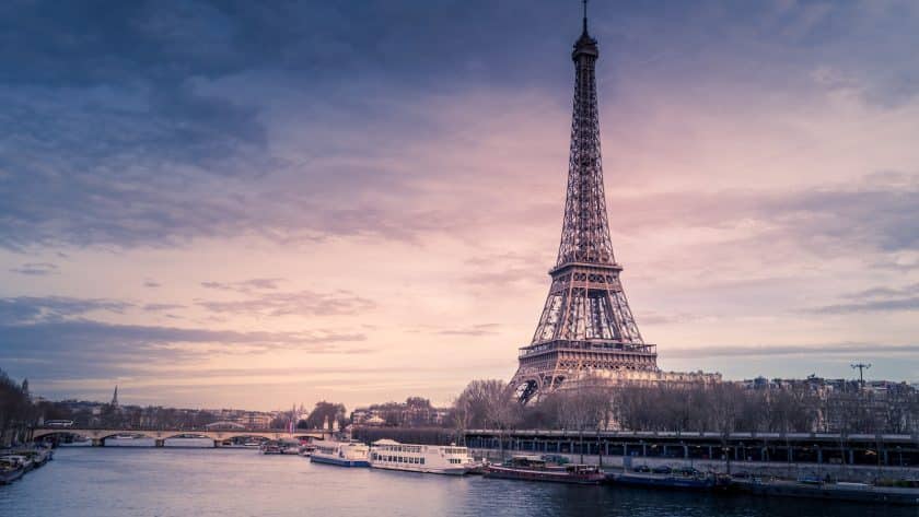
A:
{"type": "Polygon", "coordinates": [[[377,439],[370,449],[370,466],[374,469],[463,475],[477,468],[478,463],[466,447],[377,439]]]}

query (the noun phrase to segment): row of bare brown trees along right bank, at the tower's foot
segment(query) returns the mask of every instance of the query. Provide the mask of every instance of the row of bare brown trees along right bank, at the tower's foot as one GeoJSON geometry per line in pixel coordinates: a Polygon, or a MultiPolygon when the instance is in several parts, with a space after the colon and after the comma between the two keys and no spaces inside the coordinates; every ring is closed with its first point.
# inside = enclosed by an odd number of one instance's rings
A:
{"type": "Polygon", "coordinates": [[[502,380],[474,380],[456,398],[452,423],[468,428],[695,432],[919,432],[919,392],[817,391],[807,385],[610,387],[601,381],[519,404],[502,380]]]}

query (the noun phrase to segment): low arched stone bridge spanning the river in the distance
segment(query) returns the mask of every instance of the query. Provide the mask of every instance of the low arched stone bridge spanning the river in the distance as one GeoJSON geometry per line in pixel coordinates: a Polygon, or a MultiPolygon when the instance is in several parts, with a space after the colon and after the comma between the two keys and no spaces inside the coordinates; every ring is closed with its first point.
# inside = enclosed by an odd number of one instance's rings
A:
{"type": "Polygon", "coordinates": [[[129,428],[96,428],[96,427],[34,427],[32,439],[39,440],[47,436],[77,435],[92,439],[93,446],[102,447],[105,439],[117,435],[131,435],[152,438],[156,447],[163,447],[165,440],[178,437],[210,438],[214,447],[232,438],[313,438],[325,439],[331,433],[322,430],[295,430],[290,433],[288,430],[129,430],[129,428]]]}

